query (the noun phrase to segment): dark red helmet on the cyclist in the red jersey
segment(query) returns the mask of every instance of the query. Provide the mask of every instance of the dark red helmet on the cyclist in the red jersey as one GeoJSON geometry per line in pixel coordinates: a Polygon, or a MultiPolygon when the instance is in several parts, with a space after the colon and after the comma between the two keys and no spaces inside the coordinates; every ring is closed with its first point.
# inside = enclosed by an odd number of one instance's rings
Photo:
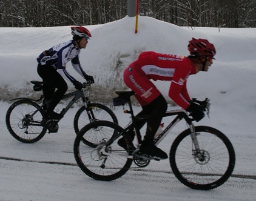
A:
{"type": "Polygon", "coordinates": [[[214,57],[216,54],[216,50],[214,44],[210,43],[206,39],[195,39],[192,38],[189,41],[189,45],[187,45],[187,49],[190,54],[194,54],[195,56],[212,56],[214,57]]]}

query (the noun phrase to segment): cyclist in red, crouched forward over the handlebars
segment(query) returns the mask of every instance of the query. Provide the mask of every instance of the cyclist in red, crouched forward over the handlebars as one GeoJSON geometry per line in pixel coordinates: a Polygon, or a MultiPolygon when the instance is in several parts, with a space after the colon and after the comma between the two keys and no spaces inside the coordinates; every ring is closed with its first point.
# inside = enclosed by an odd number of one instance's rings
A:
{"type": "MultiPolygon", "coordinates": [[[[160,91],[150,81],[172,81],[169,89],[169,97],[184,110],[190,112],[196,121],[203,119],[204,113],[197,104],[190,102],[187,92],[187,78],[190,74],[199,71],[207,71],[212,64],[216,54],[213,44],[206,39],[192,38],[189,41],[189,56],[178,56],[175,54],[161,54],[153,51],[145,51],[138,59],[124,70],[124,83],[132,89],[143,110],[137,116],[149,114],[147,129],[140,151],[149,156],[167,159],[167,154],[153,145],[153,138],[161,123],[163,114],[167,110],[167,102],[160,91]]],[[[141,122],[143,127],[146,122],[141,122]]],[[[135,133],[129,132],[132,139],[135,133]]],[[[125,147],[124,140],[120,139],[118,144],[125,147]]]]}

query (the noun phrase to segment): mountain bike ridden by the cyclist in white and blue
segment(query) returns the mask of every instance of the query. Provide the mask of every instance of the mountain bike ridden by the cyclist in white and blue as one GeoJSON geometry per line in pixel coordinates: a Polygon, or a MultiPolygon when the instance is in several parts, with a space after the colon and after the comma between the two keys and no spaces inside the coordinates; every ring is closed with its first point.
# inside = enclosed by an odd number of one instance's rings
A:
{"type": "MultiPolygon", "coordinates": [[[[44,82],[31,81],[33,84],[34,91],[41,91],[44,82]]],[[[78,133],[84,125],[96,120],[109,120],[118,124],[118,119],[110,108],[106,105],[90,102],[90,82],[84,82],[83,88],[81,90],[76,90],[71,93],[64,94],[62,100],[69,99],[73,97],[72,100],[67,104],[66,108],[61,111],[62,116],[64,116],[67,111],[75,104],[78,99],[82,99],[83,106],[79,108],[76,112],[73,126],[75,133],[78,133]],[[89,96],[86,96],[89,94],[89,96]]],[[[12,99],[10,101],[14,102],[7,110],[5,122],[7,129],[12,134],[15,139],[24,143],[34,143],[42,139],[42,137],[47,133],[57,133],[58,132],[58,122],[59,120],[49,119],[45,116],[45,110],[50,101],[44,100],[44,95],[41,95],[39,99],[30,99],[27,97],[19,97],[12,99]],[[36,102],[41,102],[37,104],[36,102]]],[[[95,143],[98,142],[96,136],[87,136],[83,139],[85,143],[95,143]]]]}

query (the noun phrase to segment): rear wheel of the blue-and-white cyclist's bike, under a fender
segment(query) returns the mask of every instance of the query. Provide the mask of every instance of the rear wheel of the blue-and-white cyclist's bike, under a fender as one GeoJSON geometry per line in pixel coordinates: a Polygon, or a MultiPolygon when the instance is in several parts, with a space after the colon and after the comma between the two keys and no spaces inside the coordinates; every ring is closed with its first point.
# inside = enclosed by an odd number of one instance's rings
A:
{"type": "MultiPolygon", "coordinates": [[[[47,128],[40,125],[29,125],[29,122],[27,122],[28,125],[25,125],[26,122],[24,122],[25,115],[33,113],[38,108],[38,104],[29,100],[16,101],[8,108],[5,123],[8,131],[16,140],[23,143],[34,143],[44,137],[47,128]]],[[[39,110],[32,118],[41,122],[44,118],[44,111],[39,110]]]]}

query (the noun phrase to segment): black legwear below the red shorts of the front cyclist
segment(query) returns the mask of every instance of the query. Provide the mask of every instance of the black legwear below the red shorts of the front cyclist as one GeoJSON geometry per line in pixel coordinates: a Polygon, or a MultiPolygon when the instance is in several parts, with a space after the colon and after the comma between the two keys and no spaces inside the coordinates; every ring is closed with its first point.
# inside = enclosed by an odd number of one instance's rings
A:
{"type": "MultiPolygon", "coordinates": [[[[167,110],[166,99],[164,99],[163,95],[160,94],[160,96],[150,102],[150,104],[144,105],[142,108],[143,110],[140,111],[140,113],[138,113],[136,116],[138,117],[149,114],[149,120],[147,120],[147,130],[144,139],[153,140],[153,137],[155,136],[155,133],[161,124],[164,113],[167,110]]],[[[144,124],[146,124],[146,122],[138,122],[138,128],[142,128],[144,124]]],[[[134,133],[132,134],[129,132],[129,134],[131,134],[133,138],[134,133]]]]}

